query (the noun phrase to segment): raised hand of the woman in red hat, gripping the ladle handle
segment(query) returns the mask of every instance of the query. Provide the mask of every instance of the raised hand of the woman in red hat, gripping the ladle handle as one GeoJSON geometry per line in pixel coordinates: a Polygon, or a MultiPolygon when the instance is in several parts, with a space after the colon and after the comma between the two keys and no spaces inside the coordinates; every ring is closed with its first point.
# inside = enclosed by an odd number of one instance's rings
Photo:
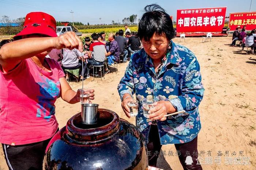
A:
{"type": "Polygon", "coordinates": [[[73,31],[68,31],[59,37],[55,37],[53,47],[56,49],[68,48],[69,50],[76,48],[83,52],[82,40],[73,31]]]}

